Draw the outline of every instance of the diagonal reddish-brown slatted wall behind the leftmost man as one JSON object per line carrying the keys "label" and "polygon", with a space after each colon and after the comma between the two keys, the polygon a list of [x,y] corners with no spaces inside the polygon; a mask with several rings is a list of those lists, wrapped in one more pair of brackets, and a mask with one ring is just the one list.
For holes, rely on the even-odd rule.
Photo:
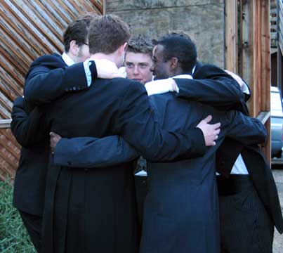
{"label": "diagonal reddish-brown slatted wall behind the leftmost man", "polygon": [[[11,118],[13,100],[22,95],[32,61],[46,53],[62,53],[67,25],[86,12],[102,14],[103,0],[0,1],[0,120]],[[1,128],[0,179],[13,176],[19,148],[11,131]]]}

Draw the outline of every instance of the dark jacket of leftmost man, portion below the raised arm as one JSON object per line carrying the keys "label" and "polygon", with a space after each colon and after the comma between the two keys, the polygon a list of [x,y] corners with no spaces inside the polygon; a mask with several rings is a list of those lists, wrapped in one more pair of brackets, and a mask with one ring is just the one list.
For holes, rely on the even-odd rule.
{"label": "dark jacket of leftmost man, portion below the raised arm", "polygon": [[44,207],[48,133],[41,124],[39,108],[28,108],[22,97],[15,99],[11,130],[20,145],[20,162],[15,173],[13,205],[23,212],[41,216]]}

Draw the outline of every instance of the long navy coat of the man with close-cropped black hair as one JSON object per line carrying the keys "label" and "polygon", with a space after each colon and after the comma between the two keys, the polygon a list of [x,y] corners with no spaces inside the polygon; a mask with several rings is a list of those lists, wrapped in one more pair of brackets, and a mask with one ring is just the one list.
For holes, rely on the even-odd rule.
{"label": "long navy coat of the man with close-cropped black hair", "polygon": [[208,105],[176,99],[172,93],[150,99],[164,129],[182,131],[213,115],[213,122],[221,122],[221,132],[217,144],[209,147],[203,157],[147,163],[149,190],[140,252],[219,252],[216,149],[224,136],[244,144],[261,143],[266,137],[265,128],[257,119],[244,117],[240,112],[219,112]]}

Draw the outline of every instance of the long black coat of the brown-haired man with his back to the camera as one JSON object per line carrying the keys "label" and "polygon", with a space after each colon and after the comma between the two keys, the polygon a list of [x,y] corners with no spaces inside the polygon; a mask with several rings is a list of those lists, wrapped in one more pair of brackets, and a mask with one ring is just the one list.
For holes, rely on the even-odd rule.
{"label": "long black coat of the brown-haired man with his back to the camera", "polygon": [[[31,70],[30,73],[36,71]],[[79,82],[79,77],[76,80]],[[123,136],[152,160],[171,160],[180,154],[194,157],[203,155],[206,151],[200,129],[190,129],[185,133],[170,133],[159,129],[144,86],[129,79],[95,79],[89,89],[65,94],[55,100],[46,110],[46,118],[51,131],[67,138]],[[56,248],[65,246],[58,241],[53,243],[54,229],[51,221],[55,219],[55,227],[59,229],[56,233],[64,234],[65,226],[68,227],[66,233],[77,232],[68,234],[68,240],[78,240],[78,235],[84,237],[86,233],[92,233],[96,237],[108,238],[107,247],[112,245],[117,252],[133,252],[131,235],[135,230],[133,216],[136,215],[133,212],[133,193],[131,163],[103,169],[58,168],[51,164],[46,186],[43,250],[52,252],[48,245],[54,243]],[[84,196],[82,202],[81,196]],[[121,196],[124,196],[123,201]],[[66,202],[68,199],[69,202]],[[86,203],[93,212],[91,216],[85,212]],[[110,210],[109,216],[104,215],[105,210]],[[74,213],[77,217],[75,219],[88,221],[81,231],[71,222]],[[65,218],[62,220],[60,217]],[[93,227],[99,233],[93,231]],[[115,236],[109,233],[115,233]],[[118,247],[112,240],[118,238],[119,241],[121,237],[129,240]],[[104,242],[105,240],[97,240],[91,250],[103,251],[106,247]]]}

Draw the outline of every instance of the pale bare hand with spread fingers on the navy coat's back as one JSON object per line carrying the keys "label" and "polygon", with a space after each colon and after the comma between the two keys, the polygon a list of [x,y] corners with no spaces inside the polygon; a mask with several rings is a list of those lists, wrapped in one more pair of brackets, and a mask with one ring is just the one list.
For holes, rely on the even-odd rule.
{"label": "pale bare hand with spread fingers on the navy coat's back", "polygon": [[204,141],[206,147],[211,145],[216,145],[216,140],[218,139],[218,134],[220,133],[221,123],[209,124],[211,122],[212,116],[209,115],[205,119],[202,119],[199,124],[197,124],[197,128],[202,130],[204,134]]}

